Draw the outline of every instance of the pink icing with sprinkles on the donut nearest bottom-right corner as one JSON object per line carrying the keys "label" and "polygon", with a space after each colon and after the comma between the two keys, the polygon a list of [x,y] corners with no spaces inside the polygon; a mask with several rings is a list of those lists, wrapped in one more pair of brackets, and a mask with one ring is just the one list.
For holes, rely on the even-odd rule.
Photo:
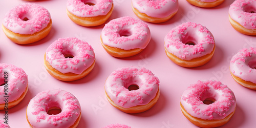
{"label": "pink icing with sprinkles on the donut nearest bottom-right corner", "polygon": [[[204,104],[206,98],[216,101]],[[236,98],[233,92],[220,81],[198,81],[191,84],[180,99],[184,109],[193,117],[204,120],[224,119],[236,108]]]}

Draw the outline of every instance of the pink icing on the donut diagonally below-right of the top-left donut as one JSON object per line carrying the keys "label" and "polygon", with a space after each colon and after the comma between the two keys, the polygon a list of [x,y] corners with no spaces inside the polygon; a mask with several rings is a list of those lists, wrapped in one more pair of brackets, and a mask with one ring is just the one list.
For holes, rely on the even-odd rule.
{"label": "pink icing on the donut diagonally below-right of the top-left donut", "polygon": [[[73,55],[73,58],[65,58]],[[61,73],[81,74],[95,60],[93,48],[85,41],[74,37],[59,38],[46,50],[46,60]]]}

